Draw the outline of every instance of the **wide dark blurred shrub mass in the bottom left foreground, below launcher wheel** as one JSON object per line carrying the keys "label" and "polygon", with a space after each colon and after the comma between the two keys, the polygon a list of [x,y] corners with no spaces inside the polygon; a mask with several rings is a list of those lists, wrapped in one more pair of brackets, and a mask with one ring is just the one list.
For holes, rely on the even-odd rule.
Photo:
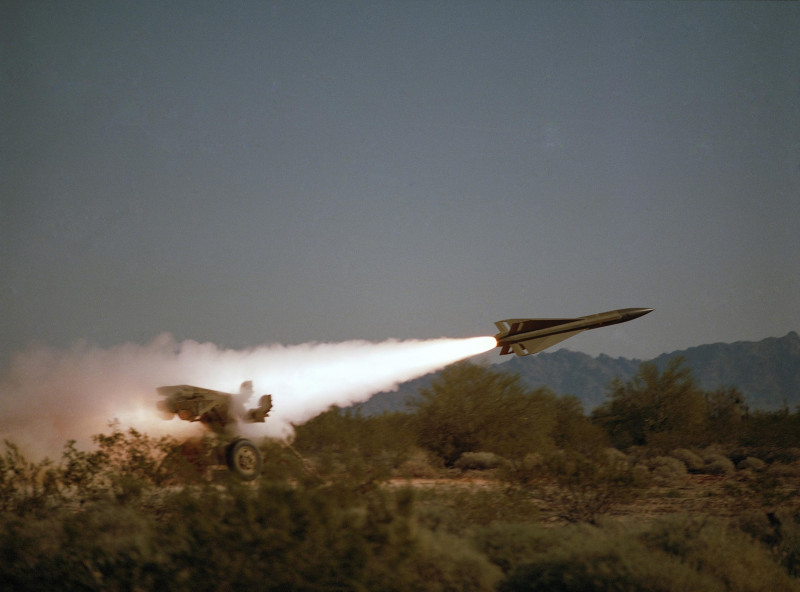
{"label": "wide dark blurred shrub mass in the bottom left foreground, below launcher wheel", "polygon": [[261,481],[0,515],[0,589],[494,590],[500,570],[414,519],[408,490]]}

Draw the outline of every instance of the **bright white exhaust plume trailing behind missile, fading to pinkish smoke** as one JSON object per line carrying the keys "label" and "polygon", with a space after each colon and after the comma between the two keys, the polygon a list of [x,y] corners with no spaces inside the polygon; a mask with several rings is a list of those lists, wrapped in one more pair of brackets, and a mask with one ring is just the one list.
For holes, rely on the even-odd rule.
{"label": "bright white exhaust plume trailing behind missile, fading to pinkish smoke", "polygon": [[[232,350],[212,343],[177,342],[165,334],[148,345],[108,349],[79,344],[69,350],[36,348],[18,354],[0,379],[0,438],[23,450],[57,457],[67,439],[85,446],[118,419],[123,429],[186,437],[196,423],[163,420],[156,387],[193,384],[238,392],[252,380],[255,394],[273,396],[265,424],[248,435],[286,436],[331,405],[346,406],[448,364],[488,351],[492,337],[348,341]],[[254,431],[257,430],[257,431]]]}

